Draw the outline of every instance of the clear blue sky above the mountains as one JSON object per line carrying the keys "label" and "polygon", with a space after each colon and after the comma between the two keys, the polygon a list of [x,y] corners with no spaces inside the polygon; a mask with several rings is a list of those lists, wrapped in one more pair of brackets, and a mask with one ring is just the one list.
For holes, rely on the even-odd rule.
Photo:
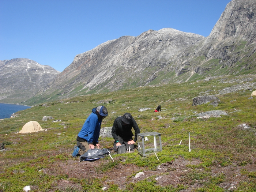
{"label": "clear blue sky above the mountains", "polygon": [[76,54],[124,35],[173,28],[208,36],[230,0],[0,0],[0,60],[63,71]]}

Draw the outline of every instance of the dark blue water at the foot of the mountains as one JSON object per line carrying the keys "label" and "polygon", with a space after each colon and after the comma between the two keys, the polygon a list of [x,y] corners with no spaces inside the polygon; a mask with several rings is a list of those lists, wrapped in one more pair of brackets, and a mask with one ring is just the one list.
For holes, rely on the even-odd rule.
{"label": "dark blue water at the foot of the mountains", "polygon": [[28,108],[31,108],[31,106],[0,103],[0,119],[10,118],[13,113]]}

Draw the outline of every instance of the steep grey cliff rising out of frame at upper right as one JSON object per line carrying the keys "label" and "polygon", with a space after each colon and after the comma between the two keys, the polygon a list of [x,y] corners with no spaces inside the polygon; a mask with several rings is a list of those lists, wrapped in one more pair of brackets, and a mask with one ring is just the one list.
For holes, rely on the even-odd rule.
{"label": "steep grey cliff rising out of frame at upper right", "polygon": [[186,48],[170,68],[178,81],[197,75],[239,75],[255,72],[256,1],[232,0],[211,34]]}

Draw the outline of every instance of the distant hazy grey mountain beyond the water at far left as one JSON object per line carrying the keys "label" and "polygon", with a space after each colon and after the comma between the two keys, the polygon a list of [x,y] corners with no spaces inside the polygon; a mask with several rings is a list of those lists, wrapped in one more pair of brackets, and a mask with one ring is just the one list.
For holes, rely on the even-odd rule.
{"label": "distant hazy grey mountain beyond the water at far left", "polygon": [[0,61],[0,102],[22,103],[44,89],[59,73],[30,59]]}

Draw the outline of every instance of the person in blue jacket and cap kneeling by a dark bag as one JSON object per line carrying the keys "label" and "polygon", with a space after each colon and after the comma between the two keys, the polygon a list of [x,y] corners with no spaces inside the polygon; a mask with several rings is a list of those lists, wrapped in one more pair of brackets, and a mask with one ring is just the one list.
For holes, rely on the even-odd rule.
{"label": "person in blue jacket and cap kneeling by a dark bag", "polygon": [[81,131],[76,138],[77,146],[74,147],[73,157],[83,155],[89,149],[100,146],[99,131],[101,129],[102,119],[108,116],[108,110],[105,106],[98,106],[92,109],[92,113],[85,120]]}

